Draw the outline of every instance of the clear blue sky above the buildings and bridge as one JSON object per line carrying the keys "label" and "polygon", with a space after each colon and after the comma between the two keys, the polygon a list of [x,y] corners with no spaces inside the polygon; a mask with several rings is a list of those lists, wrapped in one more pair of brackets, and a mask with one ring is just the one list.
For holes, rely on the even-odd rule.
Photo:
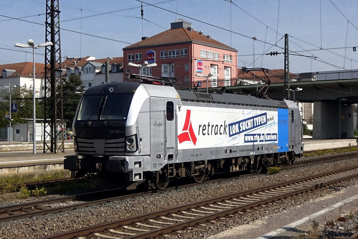
{"label": "clear blue sky above the buildings and bridge", "polygon": [[[35,44],[45,41],[45,2],[0,1],[0,64],[32,62],[32,49],[25,53],[25,48],[16,48],[14,43],[26,43],[30,38]],[[61,55],[97,59],[123,56],[122,48],[139,42],[142,36],[163,32],[170,28],[170,22],[182,18],[191,22],[194,30],[237,49],[238,67],[253,67],[255,44],[255,67],[282,69],[283,54],[265,53],[284,52],[283,36],[287,33],[292,54],[304,55],[290,55],[290,72],[358,69],[358,49],[353,52],[353,47],[358,48],[357,0],[231,2],[59,0]],[[141,3],[144,20],[140,16]],[[81,37],[80,32],[89,35]],[[258,40],[254,43],[252,37]],[[44,54],[44,50],[36,49],[35,53]],[[40,54],[35,56],[35,62],[44,62]],[[318,58],[306,57],[312,55]]]}

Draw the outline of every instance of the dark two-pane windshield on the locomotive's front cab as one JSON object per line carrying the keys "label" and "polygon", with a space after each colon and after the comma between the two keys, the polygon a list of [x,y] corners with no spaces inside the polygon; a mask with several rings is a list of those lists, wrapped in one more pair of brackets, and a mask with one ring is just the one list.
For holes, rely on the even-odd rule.
{"label": "dark two-pane windshield on the locomotive's front cab", "polygon": [[126,119],[131,104],[131,94],[84,95],[77,120]]}

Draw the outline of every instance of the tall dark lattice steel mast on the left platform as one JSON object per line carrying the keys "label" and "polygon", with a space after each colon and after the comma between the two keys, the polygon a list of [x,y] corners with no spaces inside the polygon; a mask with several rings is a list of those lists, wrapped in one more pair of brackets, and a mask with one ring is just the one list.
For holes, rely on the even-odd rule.
{"label": "tall dark lattice steel mast on the left platform", "polygon": [[[53,46],[45,49],[44,153],[64,152],[62,70],[60,44],[59,0],[46,1],[46,41]],[[60,137],[58,139],[58,137]]]}

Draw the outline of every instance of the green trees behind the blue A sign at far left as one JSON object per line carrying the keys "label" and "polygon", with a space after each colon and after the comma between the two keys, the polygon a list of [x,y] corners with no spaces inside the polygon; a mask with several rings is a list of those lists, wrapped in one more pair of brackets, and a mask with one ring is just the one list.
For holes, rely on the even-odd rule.
{"label": "green trees behind the blue A sign at far left", "polygon": [[[9,91],[1,91],[0,93],[0,114],[3,116],[9,113],[10,102],[9,102]],[[11,113],[11,121],[14,123],[26,123],[24,119],[33,118],[33,89],[32,87],[24,86],[16,87],[11,89],[11,103],[18,105],[18,112]],[[43,119],[43,102],[36,100],[36,118]],[[4,116],[0,117],[0,127],[5,127],[9,124],[9,120],[5,119]]]}

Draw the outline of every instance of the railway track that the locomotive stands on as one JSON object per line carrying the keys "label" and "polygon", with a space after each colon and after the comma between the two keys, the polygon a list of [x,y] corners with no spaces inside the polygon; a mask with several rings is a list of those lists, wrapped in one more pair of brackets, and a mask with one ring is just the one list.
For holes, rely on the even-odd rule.
{"label": "railway track that the locomotive stands on", "polygon": [[[323,162],[332,162],[342,159],[347,159],[351,157],[358,156],[358,153],[352,154],[345,154],[339,156],[330,156],[325,158],[317,158],[317,159],[310,159],[304,161],[297,161],[295,164],[289,164],[283,166],[283,169],[289,169],[292,167],[302,167],[311,164],[323,163]],[[258,173],[251,173],[245,175],[238,175],[229,178],[218,178],[214,180],[204,181],[202,184],[212,184],[217,182],[223,182],[228,180],[235,180],[242,177],[248,177],[252,175],[257,175]],[[83,208],[87,206],[93,206],[98,204],[103,204],[111,201],[119,201],[123,199],[139,197],[150,195],[153,193],[161,192],[161,191],[171,191],[171,190],[178,190],[180,188],[187,188],[198,185],[198,183],[191,183],[185,185],[175,185],[172,187],[168,187],[165,190],[152,190],[152,191],[121,191],[121,190],[106,190],[106,191],[97,191],[97,192],[89,192],[89,193],[82,193],[73,196],[61,197],[56,199],[49,199],[49,200],[42,200],[42,201],[35,201],[35,202],[27,202],[24,204],[17,204],[17,205],[9,205],[0,207],[0,222],[6,222],[10,220],[16,220],[21,218],[28,218],[31,216],[38,216],[38,215],[45,215],[45,214],[53,214],[58,212],[70,211],[73,209]],[[113,195],[118,195],[113,197]],[[100,198],[100,199],[99,199]],[[54,204],[74,201],[71,205],[66,206],[54,206]],[[82,202],[85,201],[85,202]]]}

